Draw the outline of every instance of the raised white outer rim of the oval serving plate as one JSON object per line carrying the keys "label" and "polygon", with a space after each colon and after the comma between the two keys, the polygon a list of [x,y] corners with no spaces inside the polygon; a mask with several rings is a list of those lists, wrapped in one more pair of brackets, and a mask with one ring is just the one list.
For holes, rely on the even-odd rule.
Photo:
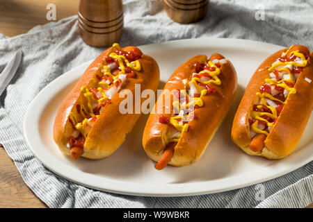
{"label": "raised white outer rim of the oval serving plate", "polygon": [[[193,44],[193,45],[201,45],[203,44],[202,41],[213,41],[213,42],[227,42],[226,44],[230,44],[231,42],[236,42],[238,44],[246,44],[247,42],[250,42],[250,44],[254,44],[253,46],[257,46],[259,49],[264,49],[263,47],[264,46],[268,46],[268,47],[274,47],[274,48],[285,48],[284,46],[279,46],[279,45],[276,45],[276,44],[270,44],[270,43],[266,43],[266,42],[257,42],[257,41],[253,41],[253,40],[241,40],[241,39],[232,39],[232,38],[198,38],[198,39],[186,39],[186,40],[173,40],[173,41],[169,41],[169,42],[160,42],[160,43],[154,43],[154,44],[147,44],[147,45],[143,45],[143,46],[138,46],[140,49],[143,49],[144,51],[149,49],[150,47],[153,48],[153,46],[159,46],[160,44],[161,45],[168,45],[168,44],[171,44],[172,46],[176,46],[177,44],[181,44],[182,42],[185,42],[185,43],[190,43]],[[249,44],[247,44],[249,45]],[[146,49],[147,48],[147,49]],[[255,50],[255,49],[254,49]],[[279,50],[279,49],[278,49]],[[42,152],[40,153],[40,151],[38,152],[38,149],[34,149],[32,145],[34,141],[31,141],[29,140],[29,134],[31,133],[31,128],[35,129],[35,128],[38,128],[38,126],[33,126],[31,127],[31,124],[29,124],[29,121],[31,120],[31,115],[37,117],[37,119],[40,118],[40,115],[42,112],[40,112],[40,110],[44,110],[45,108],[45,105],[47,105],[47,101],[44,101],[42,103],[44,103],[44,105],[42,105],[43,108],[40,108],[40,109],[35,109],[35,105],[36,105],[36,101],[39,101],[38,98],[40,98],[41,96],[45,95],[45,93],[49,90],[49,86],[51,87],[51,85],[54,85],[58,82],[62,83],[62,80],[63,79],[66,79],[67,76],[69,76],[70,73],[72,73],[74,70],[79,70],[79,69],[82,69],[81,67],[83,66],[86,66],[86,68],[88,67],[88,65],[90,65],[90,62],[92,62],[93,60],[89,60],[88,62],[84,62],[83,64],[77,66],[77,67],[74,67],[74,69],[70,69],[69,71],[66,71],[64,74],[61,74],[60,76],[58,76],[58,78],[54,79],[51,81],[51,83],[49,83],[48,85],[46,85],[42,90],[40,90],[40,92],[35,96],[35,98],[33,99],[33,101],[31,101],[29,107],[27,108],[27,111],[26,111],[26,114],[24,116],[24,121],[23,121],[23,130],[24,130],[24,137],[26,139],[26,142],[27,144],[29,145],[29,148],[31,148],[31,151],[33,152],[33,154],[35,155],[35,157],[45,166],[47,167],[50,171],[53,171],[54,173],[56,173],[58,176],[61,176],[62,178],[65,178],[66,180],[70,180],[72,182],[75,182],[79,185],[83,185],[85,187],[89,187],[89,188],[92,188],[92,189],[97,189],[97,190],[101,190],[101,191],[108,191],[110,193],[114,193],[114,194],[126,194],[126,195],[134,195],[134,196],[195,196],[195,195],[202,195],[202,194],[214,194],[214,193],[218,193],[220,191],[229,191],[229,190],[233,190],[233,189],[239,189],[241,187],[248,187],[250,185],[255,185],[259,182],[265,182],[265,181],[268,181],[268,180],[271,180],[271,179],[274,179],[274,178],[278,178],[280,176],[283,176],[284,174],[286,173],[289,173],[291,171],[294,171],[302,166],[304,166],[305,164],[311,162],[313,160],[313,155],[311,155],[310,158],[307,158],[305,161],[296,161],[297,164],[294,164],[292,165],[292,167],[289,167],[287,169],[280,169],[278,171],[278,173],[269,173],[269,176],[266,176],[266,177],[262,177],[262,178],[255,178],[255,172],[253,173],[250,173],[251,175],[249,176],[248,173],[244,174],[246,176],[246,178],[255,178],[254,180],[250,180],[250,182],[247,182],[247,179],[243,178],[243,176],[233,176],[233,177],[227,177],[227,178],[219,178],[219,179],[216,179],[216,180],[211,180],[211,181],[202,181],[202,182],[189,182],[187,184],[184,184],[184,183],[179,183],[179,184],[164,184],[164,185],[150,185],[150,184],[139,184],[138,182],[125,182],[123,180],[113,180],[111,178],[100,178],[99,181],[106,181],[108,184],[109,184],[109,187],[106,186],[106,184],[104,186],[100,186],[99,185],[90,185],[90,182],[87,183],[83,180],[88,180],[88,178],[90,179],[90,181],[93,181],[93,177],[96,177],[96,178],[99,178],[97,177],[96,175],[93,175],[91,173],[86,173],[86,172],[83,172],[83,171],[80,171],[79,169],[75,168],[75,167],[72,167],[72,166],[69,166],[67,164],[65,164],[63,161],[61,160],[58,160],[57,158],[50,158],[48,157],[48,160],[46,159],[47,157],[45,156],[42,156]],[[77,76],[81,76],[80,75],[77,75]],[[69,80],[67,81],[64,81],[66,82],[63,83],[63,85],[68,85],[70,83]],[[57,91],[59,92],[60,89]],[[39,113],[39,115],[34,115],[34,112],[36,113]],[[38,123],[37,121],[35,121],[35,123]],[[36,125],[36,124],[35,124]],[[40,139],[40,135],[39,133],[37,132],[38,134],[38,138],[37,139]],[[41,142],[41,140],[40,140]],[[307,147],[305,149],[302,149],[300,151],[298,151],[298,155],[291,155],[287,158],[289,158],[289,161],[292,161],[294,159],[302,159],[301,157],[303,155],[301,155],[301,153],[305,152],[305,150],[307,150],[308,148],[313,148],[312,144],[309,145],[310,147]],[[42,151],[47,151],[47,149],[42,149]],[[48,151],[47,151],[48,152]],[[299,153],[300,152],[300,153]],[[48,152],[49,153],[49,152]],[[306,153],[306,152],[305,152]],[[246,154],[245,154],[246,155]],[[51,156],[50,156],[51,157]],[[71,171],[71,173],[68,173],[67,171],[63,171],[63,167],[62,167],[62,164],[61,165],[58,165],[56,163],[53,163],[51,162],[51,160],[54,159],[56,160],[56,163],[57,162],[61,162],[63,163],[63,165],[65,167],[70,167],[73,171]],[[290,160],[291,159],[291,160]],[[280,166],[279,166],[280,167]],[[286,167],[284,167],[286,168]],[[257,171],[261,171],[264,173],[267,172],[267,171],[271,171],[271,169],[269,169],[269,167],[264,167],[262,169],[259,169]],[[277,171],[277,170],[276,170]],[[276,172],[275,171],[275,172]],[[85,178],[75,178],[77,176],[77,173],[78,174],[81,174],[85,177]],[[74,176],[71,176],[71,175],[74,175]],[[80,175],[78,175],[80,176]],[[197,190],[199,189],[199,186],[204,186],[204,187],[209,187],[210,183],[212,182],[220,182],[223,184],[223,180],[230,180],[233,179],[233,180],[238,180],[238,182],[236,182],[236,185],[232,185],[232,186],[221,186],[220,188],[218,189],[200,189],[200,190]],[[249,181],[249,180],[248,180]],[[114,182],[114,188],[111,187],[110,188],[110,185],[113,185]],[[116,185],[116,183],[122,183],[122,186],[121,185]],[[129,186],[128,186],[129,185]],[[129,189],[129,187],[133,187],[133,185],[136,185],[138,187],[138,185],[141,185],[140,188],[132,188],[132,189]],[[161,188],[160,188],[161,186]],[[117,188],[116,188],[117,187]],[[127,187],[127,188],[126,188]],[[148,187],[148,188],[147,188]],[[166,188],[164,188],[166,187]],[[177,191],[177,187],[179,188],[179,191]],[[183,191],[182,190],[182,187],[184,187],[184,189],[186,189],[187,191]],[[188,189],[186,187],[193,187],[195,189]],[[227,187],[227,188],[225,188]],[[173,193],[173,191],[175,191]]]}

